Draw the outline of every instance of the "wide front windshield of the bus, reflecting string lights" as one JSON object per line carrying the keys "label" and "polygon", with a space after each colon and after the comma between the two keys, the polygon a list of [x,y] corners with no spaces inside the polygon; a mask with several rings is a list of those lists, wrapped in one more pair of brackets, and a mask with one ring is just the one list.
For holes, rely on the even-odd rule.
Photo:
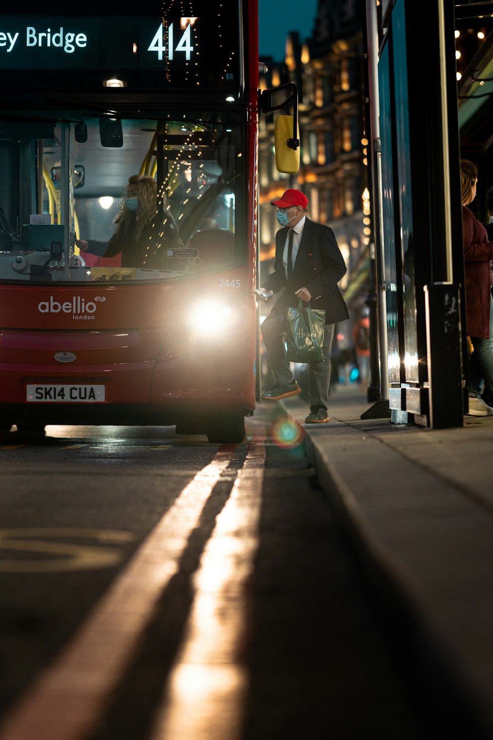
{"label": "wide front windshield of the bus, reflecting string lights", "polygon": [[244,263],[242,116],[0,122],[0,281],[169,280]]}

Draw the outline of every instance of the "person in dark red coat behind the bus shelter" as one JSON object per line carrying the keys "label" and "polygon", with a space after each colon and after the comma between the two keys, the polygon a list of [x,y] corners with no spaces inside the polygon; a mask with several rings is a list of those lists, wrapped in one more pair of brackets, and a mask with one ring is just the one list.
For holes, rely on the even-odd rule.
{"label": "person in dark red coat behind the bus shelter", "polygon": [[474,351],[469,357],[469,414],[491,416],[493,408],[480,395],[483,379],[493,394],[493,326],[490,275],[493,242],[486,229],[466,206],[476,196],[477,167],[469,160],[460,161],[464,263],[466,279],[466,325]]}

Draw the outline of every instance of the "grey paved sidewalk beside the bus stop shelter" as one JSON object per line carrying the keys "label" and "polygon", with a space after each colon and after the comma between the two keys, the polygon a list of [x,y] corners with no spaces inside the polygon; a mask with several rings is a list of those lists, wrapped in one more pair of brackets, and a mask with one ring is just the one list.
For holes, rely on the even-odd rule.
{"label": "grey paved sidewalk beside the bus stop shelter", "polygon": [[410,615],[417,650],[424,642],[426,662],[431,649],[493,738],[493,417],[444,430],[361,420],[371,403],[358,386],[337,386],[329,403],[324,425],[304,425],[299,396],[284,406],[364,562]]}

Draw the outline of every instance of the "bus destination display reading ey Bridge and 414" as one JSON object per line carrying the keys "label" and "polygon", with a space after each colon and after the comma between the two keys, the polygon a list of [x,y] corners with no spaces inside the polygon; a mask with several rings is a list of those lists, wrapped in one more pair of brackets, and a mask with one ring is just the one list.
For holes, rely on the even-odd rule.
{"label": "bus destination display reading ey Bridge and 414", "polygon": [[123,87],[238,89],[239,21],[225,13],[0,16],[0,70],[10,70],[0,88],[94,88],[116,78]]}

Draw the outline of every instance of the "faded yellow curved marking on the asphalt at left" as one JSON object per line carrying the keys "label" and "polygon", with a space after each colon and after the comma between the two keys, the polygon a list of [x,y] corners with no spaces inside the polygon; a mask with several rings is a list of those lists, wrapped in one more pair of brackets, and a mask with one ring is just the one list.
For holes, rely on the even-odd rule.
{"label": "faded yellow curved marking on the asphalt at left", "polygon": [[[39,539],[27,539],[36,537]],[[52,559],[0,559],[0,573],[58,573],[85,571],[92,568],[109,568],[123,558],[116,548],[74,545],[72,542],[46,542],[42,537],[84,537],[112,544],[132,542],[131,532],[116,530],[80,529],[72,527],[28,527],[0,529],[0,553],[4,550],[35,552],[54,555]]]}

